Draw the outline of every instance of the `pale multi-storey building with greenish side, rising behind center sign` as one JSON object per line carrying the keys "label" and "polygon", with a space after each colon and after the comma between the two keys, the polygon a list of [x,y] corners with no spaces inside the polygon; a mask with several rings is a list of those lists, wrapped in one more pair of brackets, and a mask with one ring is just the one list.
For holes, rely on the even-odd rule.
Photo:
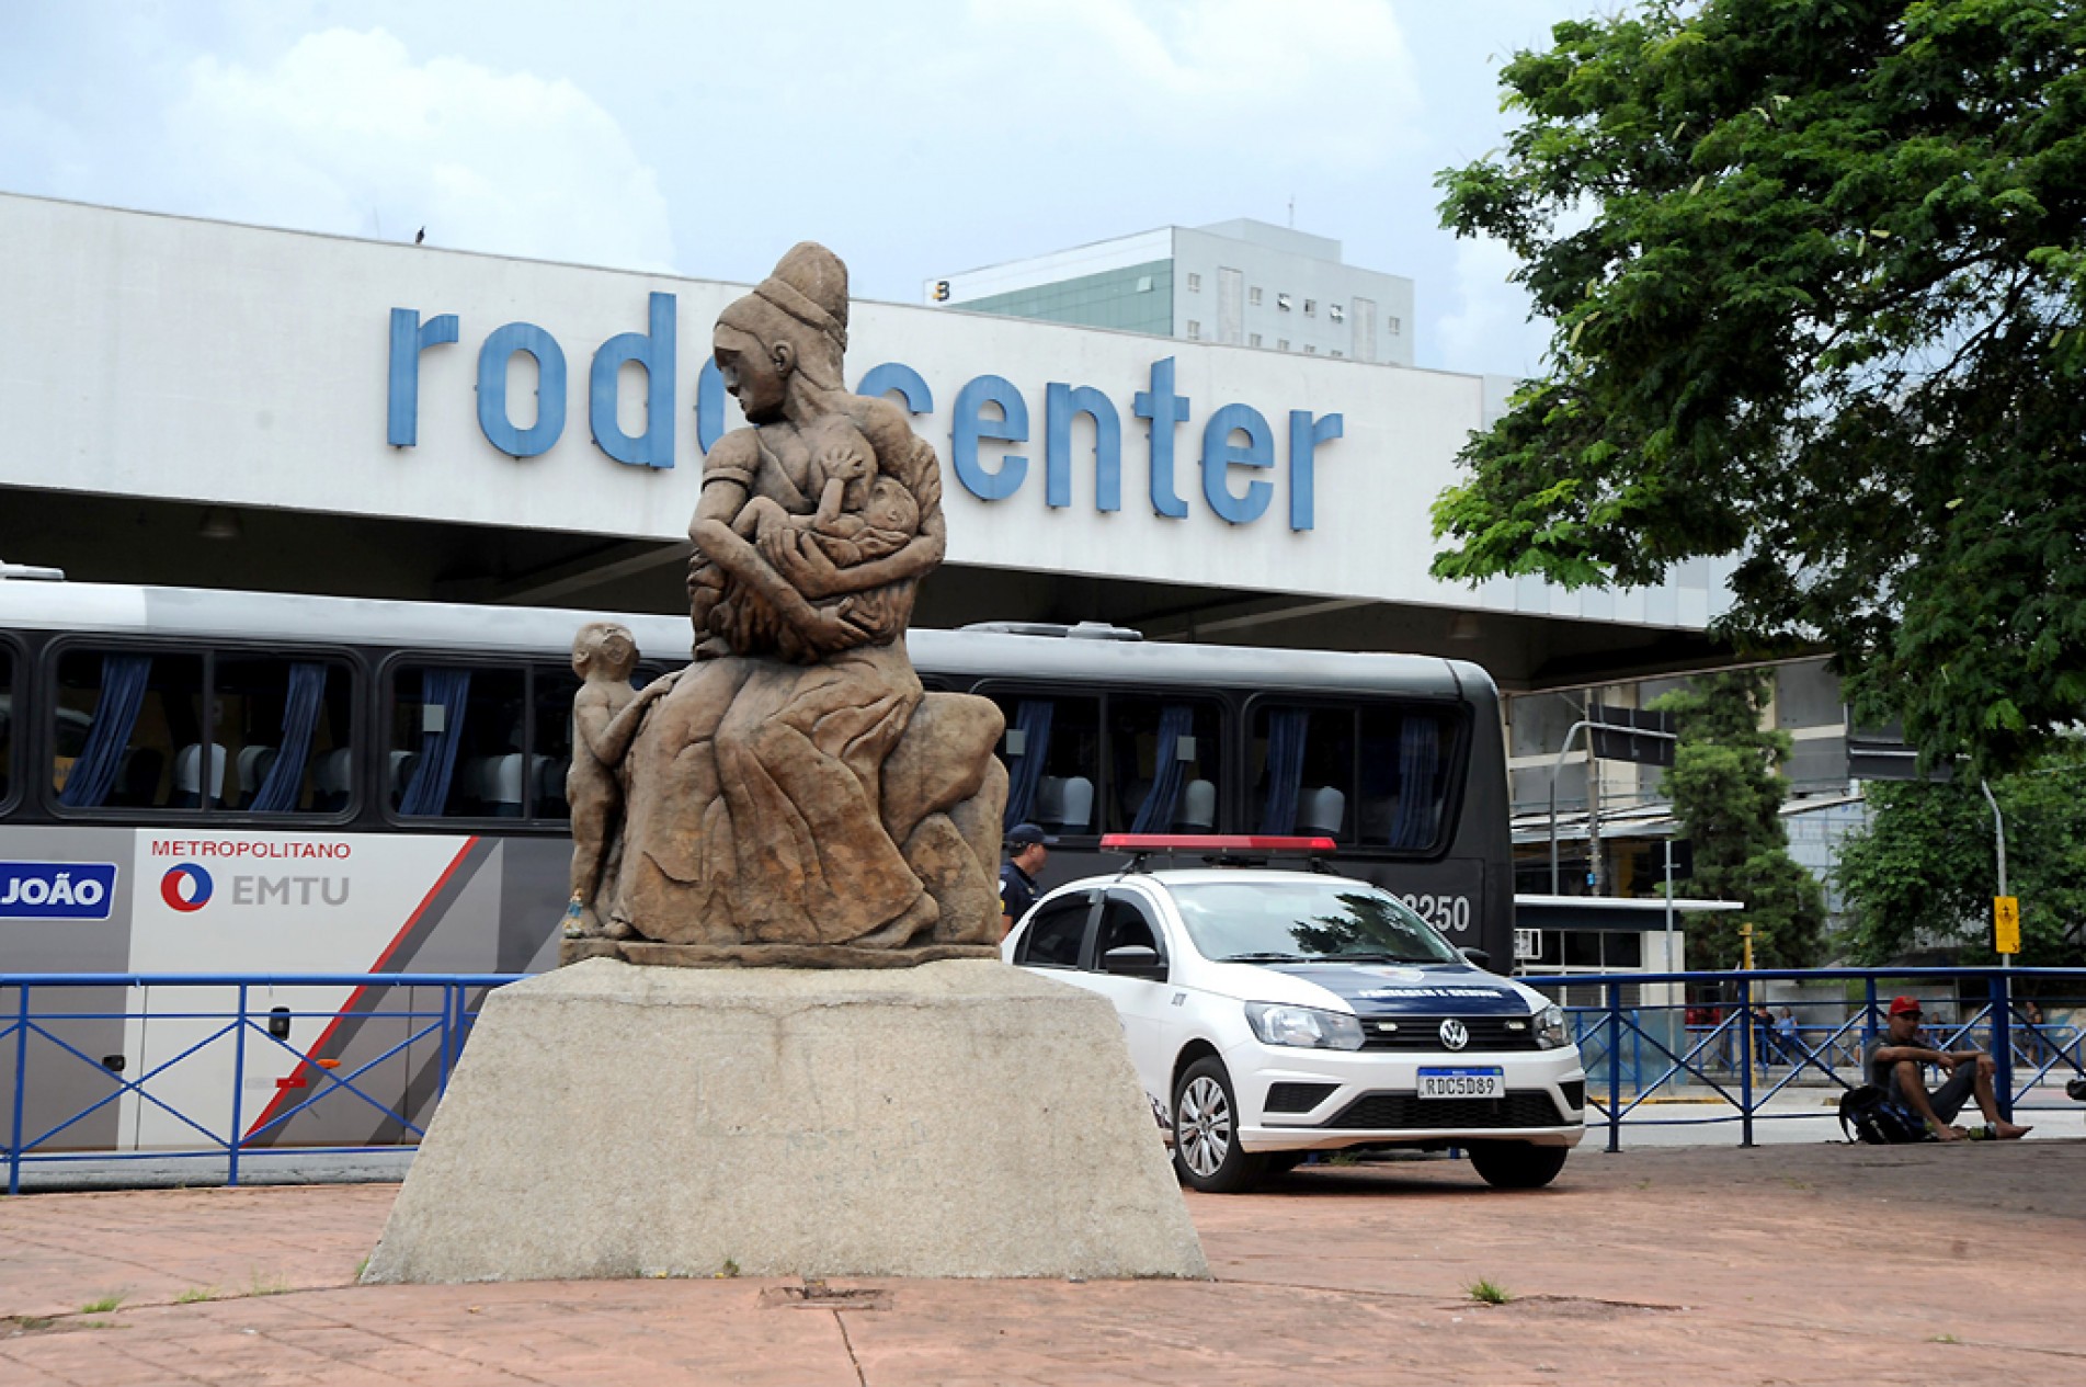
{"label": "pale multi-storey building with greenish side, rising behind center sign", "polygon": [[1185,342],[1412,365],[1412,279],[1266,221],[1160,227],[941,275],[924,300]]}

